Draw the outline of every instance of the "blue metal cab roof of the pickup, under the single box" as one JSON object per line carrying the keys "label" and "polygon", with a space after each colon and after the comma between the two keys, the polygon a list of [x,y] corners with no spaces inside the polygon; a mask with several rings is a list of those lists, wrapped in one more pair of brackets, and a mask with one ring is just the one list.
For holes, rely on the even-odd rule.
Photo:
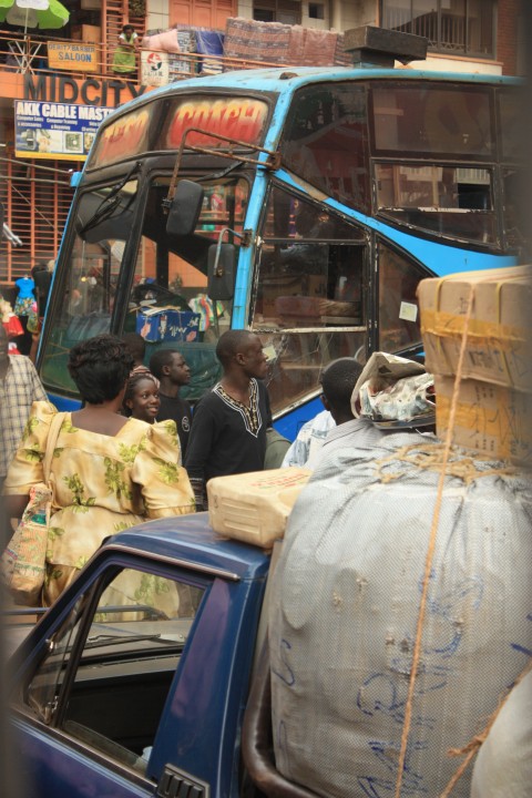
{"label": "blue metal cab roof of the pickup, under the single box", "polygon": [[258,546],[222,538],[208,523],[208,513],[146,521],[105,540],[105,548],[127,549],[172,562],[183,560],[211,572],[239,580],[264,576],[269,554]]}

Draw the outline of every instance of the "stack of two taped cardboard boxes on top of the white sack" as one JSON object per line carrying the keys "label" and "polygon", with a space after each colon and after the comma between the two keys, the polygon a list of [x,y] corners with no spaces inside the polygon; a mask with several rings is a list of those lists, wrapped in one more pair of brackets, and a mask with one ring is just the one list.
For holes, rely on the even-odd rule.
{"label": "stack of two taped cardboard boxes on top of the white sack", "polygon": [[532,467],[532,267],[422,280],[418,296],[426,366],[434,375],[438,434],[444,437],[449,426],[472,296],[453,441]]}

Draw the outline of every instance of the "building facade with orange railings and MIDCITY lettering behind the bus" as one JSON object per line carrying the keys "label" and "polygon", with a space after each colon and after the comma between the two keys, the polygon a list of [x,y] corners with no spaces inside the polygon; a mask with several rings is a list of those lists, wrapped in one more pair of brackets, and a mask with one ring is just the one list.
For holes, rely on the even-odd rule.
{"label": "building facade with orange railings and MIDCITY lettering behind the bus", "polygon": [[[40,260],[55,258],[72,198],[70,175],[82,166],[99,121],[149,90],[139,70],[113,72],[125,22],[139,37],[186,25],[223,31],[234,17],[337,31],[372,24],[426,35],[428,69],[520,74],[524,62],[519,0],[66,0],[64,4],[70,19],[61,30],[41,34],[30,29],[24,35],[20,28],[0,25],[0,202],[6,223],[21,241],[17,245],[14,239],[2,239],[3,293]],[[61,153],[54,154],[50,135],[47,139],[42,131],[40,142],[37,133],[25,133],[27,149],[21,151],[16,111],[31,114],[35,103],[52,110],[55,104],[75,106],[72,114],[83,117],[64,134]]]}

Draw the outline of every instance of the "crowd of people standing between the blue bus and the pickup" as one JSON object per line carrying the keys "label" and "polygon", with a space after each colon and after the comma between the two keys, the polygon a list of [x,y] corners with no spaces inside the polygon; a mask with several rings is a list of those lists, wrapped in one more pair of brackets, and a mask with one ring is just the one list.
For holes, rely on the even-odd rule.
{"label": "crowd of people standing between the blue bus and the pickup", "polygon": [[[386,431],[358,418],[351,396],[362,367],[340,358],[321,374],[325,410],[290,444],[273,428],[260,338],[228,330],[218,339],[219,381],[195,405],[181,396],[191,380],[183,355],[146,358],[136,332],[99,335],[70,352],[82,407],[61,415],[53,446],[53,487],[43,605],[75,577],[101,541],[149,519],[207,510],[214,477],[280,466],[315,469],[354,438],[378,444]],[[146,365],[147,359],[147,365]],[[43,481],[57,409],[31,359],[9,354],[0,327],[0,488],[9,519],[4,545],[33,485]]]}

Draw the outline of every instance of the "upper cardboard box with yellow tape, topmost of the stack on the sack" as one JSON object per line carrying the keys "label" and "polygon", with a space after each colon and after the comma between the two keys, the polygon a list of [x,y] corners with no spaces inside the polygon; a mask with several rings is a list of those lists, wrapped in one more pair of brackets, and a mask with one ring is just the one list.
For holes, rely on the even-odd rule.
{"label": "upper cardboard box with yellow tape, topmost of the stack on the sack", "polygon": [[531,390],[531,266],[421,280],[418,298],[427,370],[454,375],[471,291],[462,378]]}

